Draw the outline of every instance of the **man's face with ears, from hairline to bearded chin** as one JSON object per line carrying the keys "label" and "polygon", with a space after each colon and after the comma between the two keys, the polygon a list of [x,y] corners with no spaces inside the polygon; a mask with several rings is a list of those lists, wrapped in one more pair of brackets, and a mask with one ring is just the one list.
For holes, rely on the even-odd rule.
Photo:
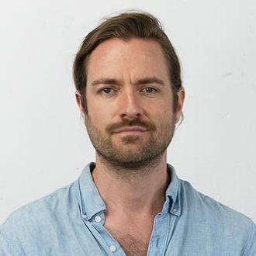
{"label": "man's face with ears, from hairline to bearded chin", "polygon": [[154,40],[107,40],[89,57],[87,74],[85,125],[98,156],[120,168],[161,159],[184,98],[182,89],[174,112],[161,46]]}

